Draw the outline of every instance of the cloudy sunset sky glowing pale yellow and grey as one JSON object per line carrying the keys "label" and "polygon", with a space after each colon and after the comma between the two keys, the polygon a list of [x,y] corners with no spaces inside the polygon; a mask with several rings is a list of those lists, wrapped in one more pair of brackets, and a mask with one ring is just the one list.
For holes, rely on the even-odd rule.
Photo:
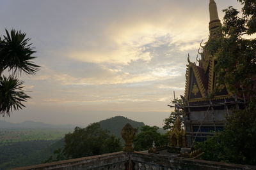
{"label": "cloudy sunset sky glowing pale yellow and grey", "polygon": [[[236,0],[216,0],[219,17]],[[162,127],[184,95],[188,53],[209,36],[209,0],[0,0],[0,34],[26,32],[35,76],[6,122],[88,125],[122,115]],[[5,73],[8,74],[8,73]]]}

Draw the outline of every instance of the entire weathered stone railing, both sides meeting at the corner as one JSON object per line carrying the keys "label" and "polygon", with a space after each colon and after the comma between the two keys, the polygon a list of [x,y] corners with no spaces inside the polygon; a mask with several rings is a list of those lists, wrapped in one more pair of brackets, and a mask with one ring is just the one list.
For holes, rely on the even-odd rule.
{"label": "entire weathered stone railing, both sides meeting at the corner", "polygon": [[116,152],[79,159],[63,160],[36,166],[19,167],[28,169],[124,169],[124,170],[169,170],[169,169],[256,169],[256,166],[227,164],[207,160],[182,159],[143,152]]}

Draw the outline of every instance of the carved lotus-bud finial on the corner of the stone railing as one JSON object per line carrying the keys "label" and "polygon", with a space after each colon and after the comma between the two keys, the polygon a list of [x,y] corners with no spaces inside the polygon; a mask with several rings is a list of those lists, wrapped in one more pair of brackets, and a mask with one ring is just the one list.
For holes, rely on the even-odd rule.
{"label": "carved lotus-bud finial on the corner of the stone railing", "polygon": [[121,131],[121,135],[122,138],[125,141],[125,147],[124,147],[124,152],[133,152],[134,148],[133,148],[133,138],[135,136],[136,133],[136,129],[134,129],[130,124],[126,124],[122,131]]}

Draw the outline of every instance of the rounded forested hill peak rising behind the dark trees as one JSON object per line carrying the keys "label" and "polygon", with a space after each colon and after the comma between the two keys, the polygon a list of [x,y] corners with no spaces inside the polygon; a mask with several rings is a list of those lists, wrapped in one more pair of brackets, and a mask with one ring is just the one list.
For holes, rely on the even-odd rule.
{"label": "rounded forested hill peak rising behind the dark trees", "polygon": [[132,127],[134,128],[145,125],[143,122],[136,122],[134,120],[122,116],[108,118],[106,120],[101,120],[99,122],[100,127],[102,127],[102,129],[108,130],[110,134],[114,134],[118,138],[121,138],[120,132],[127,123],[131,124]]}

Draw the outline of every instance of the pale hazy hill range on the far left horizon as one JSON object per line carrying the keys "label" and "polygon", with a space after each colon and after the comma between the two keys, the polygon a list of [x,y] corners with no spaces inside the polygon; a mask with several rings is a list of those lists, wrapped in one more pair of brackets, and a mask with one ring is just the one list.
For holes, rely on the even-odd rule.
{"label": "pale hazy hill range on the far left horizon", "polygon": [[63,129],[74,129],[76,125],[52,125],[45,124],[42,122],[25,121],[22,123],[14,124],[0,120],[0,128],[12,129],[12,128],[63,128]]}

